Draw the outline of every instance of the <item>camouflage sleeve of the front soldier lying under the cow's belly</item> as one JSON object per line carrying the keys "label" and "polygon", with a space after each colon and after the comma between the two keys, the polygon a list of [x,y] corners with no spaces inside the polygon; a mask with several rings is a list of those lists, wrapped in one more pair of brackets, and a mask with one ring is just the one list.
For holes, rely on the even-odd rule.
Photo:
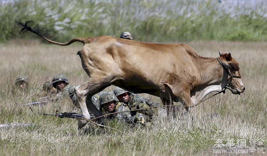
{"label": "camouflage sleeve of the front soldier lying under the cow's belly", "polygon": [[[127,106],[121,105],[116,112],[123,112],[130,110]],[[129,124],[134,124],[134,116],[131,116],[130,112],[117,113],[115,117],[119,122],[125,122]]]}

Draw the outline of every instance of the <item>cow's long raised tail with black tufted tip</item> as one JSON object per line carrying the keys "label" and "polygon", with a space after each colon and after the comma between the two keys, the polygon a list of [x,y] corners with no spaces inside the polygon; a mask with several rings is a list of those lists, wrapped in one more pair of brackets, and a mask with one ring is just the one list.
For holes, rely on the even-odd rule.
{"label": "cow's long raised tail with black tufted tip", "polygon": [[38,32],[37,29],[33,29],[27,25],[29,23],[34,23],[34,21],[26,21],[25,23],[22,23],[22,22],[16,22],[16,23],[18,25],[20,25],[20,28],[21,28],[19,33],[21,33],[21,32],[27,33],[28,31],[30,31],[31,33],[37,34],[38,36],[40,36],[41,38],[45,39],[46,41],[48,41],[50,43],[54,43],[54,44],[61,45],[61,46],[67,46],[67,45],[70,45],[71,43],[74,43],[74,42],[81,42],[81,43],[85,44],[86,40],[88,40],[88,38],[73,38],[66,43],[59,43],[59,42],[55,42],[55,41],[52,41],[52,40],[44,37],[41,33]]}

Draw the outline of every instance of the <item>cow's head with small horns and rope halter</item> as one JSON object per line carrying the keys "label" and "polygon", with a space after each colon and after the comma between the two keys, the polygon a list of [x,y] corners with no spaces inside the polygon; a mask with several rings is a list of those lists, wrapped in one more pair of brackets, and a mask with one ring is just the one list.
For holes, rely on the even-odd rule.
{"label": "cow's head with small horns and rope halter", "polygon": [[219,51],[219,54],[222,65],[229,72],[226,88],[231,90],[233,94],[240,95],[240,93],[245,91],[245,87],[241,81],[238,62],[232,58],[231,53],[223,54],[221,51]]}

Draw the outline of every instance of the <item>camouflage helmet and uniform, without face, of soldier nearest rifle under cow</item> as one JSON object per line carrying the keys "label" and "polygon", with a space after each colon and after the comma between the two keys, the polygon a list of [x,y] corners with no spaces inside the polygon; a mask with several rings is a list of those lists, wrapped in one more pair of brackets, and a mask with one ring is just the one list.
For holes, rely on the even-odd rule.
{"label": "camouflage helmet and uniform, without face, of soldier nearest rifle under cow", "polygon": [[[108,115],[107,118],[109,119],[117,119],[119,122],[124,122],[124,123],[129,123],[129,124],[134,124],[134,117],[131,116],[130,112],[123,112],[123,111],[129,111],[129,107],[125,103],[119,102],[117,97],[114,95],[112,92],[104,92],[100,95],[100,106],[102,110],[102,114],[109,114],[109,113],[115,113],[115,112],[122,112],[122,113],[116,113],[116,114],[111,114]],[[104,108],[103,104],[108,103],[108,102],[115,102],[115,108],[112,112],[106,111]]]}

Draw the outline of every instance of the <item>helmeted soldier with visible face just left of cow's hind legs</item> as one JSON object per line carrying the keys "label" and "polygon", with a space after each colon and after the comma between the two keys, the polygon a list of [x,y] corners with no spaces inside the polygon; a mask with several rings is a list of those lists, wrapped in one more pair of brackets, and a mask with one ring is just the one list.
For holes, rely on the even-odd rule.
{"label": "helmeted soldier with visible face just left of cow's hind legs", "polygon": [[72,87],[68,84],[68,79],[63,74],[57,74],[52,79],[52,85],[57,89],[56,99],[69,95],[69,90]]}

